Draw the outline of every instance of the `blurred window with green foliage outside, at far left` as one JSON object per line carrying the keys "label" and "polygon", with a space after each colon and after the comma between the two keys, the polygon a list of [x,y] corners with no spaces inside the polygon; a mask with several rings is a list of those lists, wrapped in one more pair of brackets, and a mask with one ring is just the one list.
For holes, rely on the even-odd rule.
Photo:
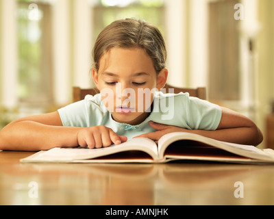
{"label": "blurred window with green foliage outside, at far left", "polygon": [[47,3],[17,2],[18,100],[49,105],[51,89],[51,7]]}

